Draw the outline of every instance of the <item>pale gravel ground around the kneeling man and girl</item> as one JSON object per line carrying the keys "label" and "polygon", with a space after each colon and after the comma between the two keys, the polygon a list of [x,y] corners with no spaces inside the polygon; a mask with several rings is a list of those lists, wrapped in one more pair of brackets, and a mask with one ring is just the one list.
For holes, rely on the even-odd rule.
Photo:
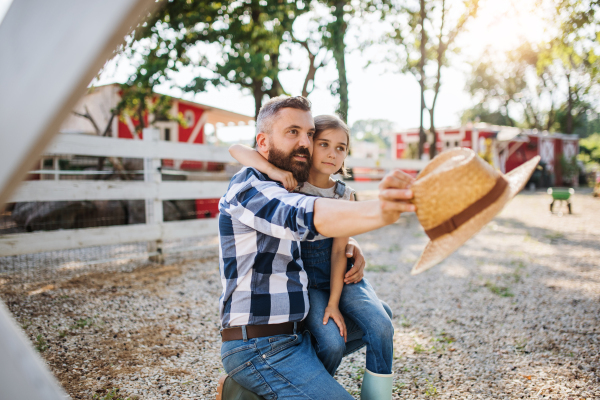
{"label": "pale gravel ground around the kneeling man and girl", "polygon": [[[526,193],[441,265],[409,275],[414,215],[361,235],[366,276],[394,311],[394,398],[600,398],[600,200],[551,215]],[[214,399],[221,291],[203,259],[11,285],[0,296],[76,399]],[[359,398],[364,351],[336,378]],[[107,397],[110,398],[110,397]]]}

